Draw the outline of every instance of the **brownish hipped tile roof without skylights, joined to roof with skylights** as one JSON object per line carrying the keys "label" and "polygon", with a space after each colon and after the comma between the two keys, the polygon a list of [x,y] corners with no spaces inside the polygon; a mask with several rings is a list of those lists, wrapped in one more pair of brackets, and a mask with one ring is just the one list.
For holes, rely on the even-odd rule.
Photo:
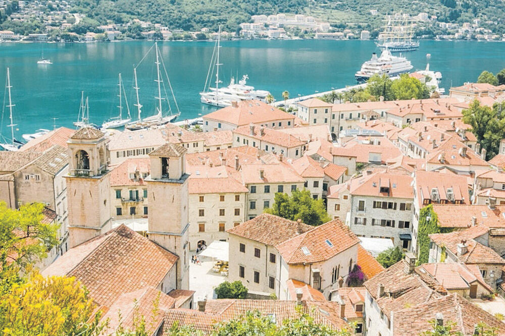
{"label": "brownish hipped tile roof without skylights, joined to roof with skylights", "polygon": [[304,223],[262,213],[234,228],[228,229],[226,232],[270,246],[276,246],[312,229],[314,227]]}

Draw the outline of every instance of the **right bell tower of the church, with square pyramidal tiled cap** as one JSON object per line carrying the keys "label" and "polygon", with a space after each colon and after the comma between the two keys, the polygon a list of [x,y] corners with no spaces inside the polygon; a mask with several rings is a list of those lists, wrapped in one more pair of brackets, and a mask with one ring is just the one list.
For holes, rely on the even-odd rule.
{"label": "right bell tower of the church, with square pyramidal tiled cap", "polygon": [[151,241],[179,256],[177,289],[189,288],[188,177],[186,149],[167,143],[149,153],[151,175],[145,179],[149,197]]}

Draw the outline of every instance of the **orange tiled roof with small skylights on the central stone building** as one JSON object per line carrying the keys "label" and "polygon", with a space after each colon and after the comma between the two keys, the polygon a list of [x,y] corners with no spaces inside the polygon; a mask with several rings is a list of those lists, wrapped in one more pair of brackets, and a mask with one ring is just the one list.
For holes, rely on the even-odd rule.
{"label": "orange tiled roof with small skylights on the central stone building", "polygon": [[328,260],[359,243],[358,237],[340,219],[333,219],[280,243],[276,248],[288,264],[298,264]]}

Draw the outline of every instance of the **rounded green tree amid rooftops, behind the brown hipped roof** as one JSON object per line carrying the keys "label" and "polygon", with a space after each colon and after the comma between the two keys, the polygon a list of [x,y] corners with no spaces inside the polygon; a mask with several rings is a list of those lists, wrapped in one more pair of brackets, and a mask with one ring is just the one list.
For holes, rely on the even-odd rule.
{"label": "rounded green tree amid rooftops, behind the brown hipped roof", "polygon": [[301,219],[302,222],[319,226],[330,221],[322,199],[314,199],[309,190],[294,190],[291,196],[286,193],[276,193],[274,204],[265,209],[266,213],[290,220]]}

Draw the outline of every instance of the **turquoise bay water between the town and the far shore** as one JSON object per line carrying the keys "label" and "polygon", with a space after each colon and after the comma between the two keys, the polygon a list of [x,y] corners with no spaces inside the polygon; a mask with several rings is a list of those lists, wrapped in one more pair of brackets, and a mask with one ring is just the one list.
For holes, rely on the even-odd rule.
{"label": "turquoise bay water between the town and the far shore", "polygon": [[[101,124],[117,112],[118,73],[122,73],[128,103],[134,113],[133,65],[153,42],[102,42],[84,44],[0,44],[0,82],[11,69],[16,137],[38,128],[72,127],[77,119],[81,91],[89,96],[90,121]],[[160,50],[181,110],[181,119],[206,114],[198,92],[203,89],[214,42],[161,42]],[[277,99],[288,90],[291,97],[355,84],[354,73],[378,51],[373,41],[244,40],[224,41],[221,48],[222,81],[249,75],[248,84],[270,90]],[[36,62],[41,53],[53,65]],[[483,70],[505,68],[505,43],[476,41],[421,41],[419,50],[407,53],[415,69],[426,67],[443,75],[441,85],[475,81]],[[154,55],[137,70],[143,116],[155,108]],[[2,99],[2,97],[0,97]],[[172,103],[173,108],[174,105]],[[4,116],[1,130],[9,134]],[[179,120],[181,120],[179,119]]]}

